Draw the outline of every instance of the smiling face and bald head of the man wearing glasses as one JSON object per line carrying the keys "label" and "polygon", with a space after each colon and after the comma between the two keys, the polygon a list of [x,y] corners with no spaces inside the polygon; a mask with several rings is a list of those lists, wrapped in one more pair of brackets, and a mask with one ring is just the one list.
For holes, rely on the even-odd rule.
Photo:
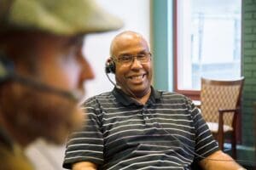
{"label": "smiling face and bald head of the man wearing glasses", "polygon": [[[113,57],[119,59],[124,55],[148,54],[148,43],[137,34],[125,34],[113,43]],[[150,92],[152,79],[151,59],[141,63],[134,59],[131,64],[115,62],[115,77],[122,90],[133,97],[142,98]]]}

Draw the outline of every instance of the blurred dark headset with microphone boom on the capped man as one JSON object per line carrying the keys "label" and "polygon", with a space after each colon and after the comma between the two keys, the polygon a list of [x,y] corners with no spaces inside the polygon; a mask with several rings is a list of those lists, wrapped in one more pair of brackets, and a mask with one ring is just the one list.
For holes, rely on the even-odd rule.
{"label": "blurred dark headset with microphone boom on the capped man", "polygon": [[61,95],[74,101],[81,99],[82,95],[78,91],[69,92],[59,88],[50,87],[43,82],[37,82],[29,77],[23,77],[19,75],[17,72],[15,72],[14,63],[7,56],[0,52],[0,84],[9,81],[19,82],[20,84],[30,86],[32,88],[37,88],[40,91]]}

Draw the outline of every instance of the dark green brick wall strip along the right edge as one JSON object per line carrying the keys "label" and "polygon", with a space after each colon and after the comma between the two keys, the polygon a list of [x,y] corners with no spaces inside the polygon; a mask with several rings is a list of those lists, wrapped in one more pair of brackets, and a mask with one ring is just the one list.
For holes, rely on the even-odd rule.
{"label": "dark green brick wall strip along the right edge", "polygon": [[245,83],[242,95],[242,144],[255,145],[256,101],[256,0],[242,0],[242,75]]}

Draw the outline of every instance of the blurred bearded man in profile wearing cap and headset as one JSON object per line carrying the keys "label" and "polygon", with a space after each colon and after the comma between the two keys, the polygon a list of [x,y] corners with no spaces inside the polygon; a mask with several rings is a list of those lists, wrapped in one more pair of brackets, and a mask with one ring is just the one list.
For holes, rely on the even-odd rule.
{"label": "blurred bearded man in profile wearing cap and headset", "polygon": [[41,137],[62,144],[79,127],[78,102],[94,77],[84,35],[121,25],[94,0],[1,0],[1,169],[33,169],[28,144]]}

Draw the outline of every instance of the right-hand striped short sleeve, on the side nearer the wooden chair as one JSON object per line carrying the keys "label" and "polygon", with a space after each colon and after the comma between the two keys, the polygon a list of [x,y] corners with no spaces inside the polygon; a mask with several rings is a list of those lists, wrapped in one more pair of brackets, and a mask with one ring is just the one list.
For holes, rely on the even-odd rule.
{"label": "right-hand striped short sleeve, on the side nearer the wooden chair", "polygon": [[195,161],[201,161],[219,150],[218,144],[213,138],[207,123],[203,119],[201,111],[195,107],[190,99],[189,107],[195,126]]}

